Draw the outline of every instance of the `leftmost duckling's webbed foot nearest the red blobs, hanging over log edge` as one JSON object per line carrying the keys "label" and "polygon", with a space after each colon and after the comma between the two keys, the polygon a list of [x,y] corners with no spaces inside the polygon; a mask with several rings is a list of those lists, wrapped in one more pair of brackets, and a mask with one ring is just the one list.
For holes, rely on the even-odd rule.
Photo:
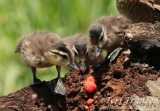
{"label": "leftmost duckling's webbed foot nearest the red blobs, hanging over log edge", "polygon": [[58,78],[57,82],[56,80],[50,81],[49,83],[47,83],[47,86],[53,94],[65,95],[66,93],[66,88],[61,78]]}

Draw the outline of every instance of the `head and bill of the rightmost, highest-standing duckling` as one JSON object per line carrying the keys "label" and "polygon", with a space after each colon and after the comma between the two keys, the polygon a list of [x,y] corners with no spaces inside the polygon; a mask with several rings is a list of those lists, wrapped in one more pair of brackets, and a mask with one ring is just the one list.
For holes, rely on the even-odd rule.
{"label": "head and bill of the rightmost, highest-standing duckling", "polygon": [[103,45],[107,42],[105,28],[101,25],[94,25],[89,30],[91,44],[94,47],[94,57],[98,58]]}

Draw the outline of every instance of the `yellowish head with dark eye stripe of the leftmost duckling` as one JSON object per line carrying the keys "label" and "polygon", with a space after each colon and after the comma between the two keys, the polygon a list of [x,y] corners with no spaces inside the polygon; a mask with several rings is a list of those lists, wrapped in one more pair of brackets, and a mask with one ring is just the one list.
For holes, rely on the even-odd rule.
{"label": "yellowish head with dark eye stripe of the leftmost duckling", "polygon": [[64,66],[71,70],[79,70],[73,60],[70,50],[67,49],[66,45],[62,42],[54,43],[46,48],[44,57],[51,64]]}

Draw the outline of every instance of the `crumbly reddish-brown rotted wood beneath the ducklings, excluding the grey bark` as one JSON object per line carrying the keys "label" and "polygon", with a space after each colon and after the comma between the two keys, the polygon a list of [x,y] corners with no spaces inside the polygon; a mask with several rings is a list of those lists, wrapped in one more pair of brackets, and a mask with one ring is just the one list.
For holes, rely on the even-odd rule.
{"label": "crumbly reddish-brown rotted wood beneath the ducklings, excluding the grey bark", "polygon": [[[145,84],[160,77],[157,63],[150,63],[145,54],[136,53],[135,49],[123,50],[112,63],[104,61],[86,73],[66,74],[65,96],[53,95],[46,82],[25,87],[0,97],[0,111],[135,111],[130,96],[151,96]],[[90,75],[95,78],[97,89],[89,94],[84,89],[84,81]],[[88,106],[86,101],[89,98],[94,101]]]}

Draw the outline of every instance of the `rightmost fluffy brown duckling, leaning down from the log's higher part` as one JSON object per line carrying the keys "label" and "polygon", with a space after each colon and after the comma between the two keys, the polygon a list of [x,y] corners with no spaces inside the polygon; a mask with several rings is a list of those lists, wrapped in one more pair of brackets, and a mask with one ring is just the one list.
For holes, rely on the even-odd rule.
{"label": "rightmost fluffy brown duckling, leaning down from the log's higher part", "polygon": [[95,58],[101,50],[107,50],[107,54],[110,54],[107,60],[112,62],[122,50],[124,30],[130,24],[131,21],[122,15],[102,16],[93,22],[89,29],[89,38],[94,47]]}

